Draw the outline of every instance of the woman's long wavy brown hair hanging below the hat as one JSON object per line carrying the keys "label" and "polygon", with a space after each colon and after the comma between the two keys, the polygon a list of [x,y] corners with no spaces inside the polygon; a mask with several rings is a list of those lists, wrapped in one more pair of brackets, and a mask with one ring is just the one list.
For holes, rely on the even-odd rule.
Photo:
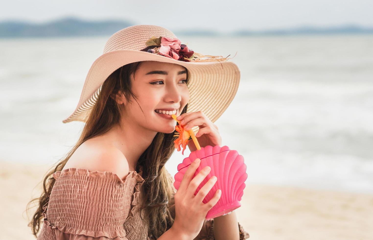
{"label": "woman's long wavy brown hair hanging below the hat", "polygon": [[[49,196],[55,182],[52,174],[56,171],[62,171],[66,162],[82,143],[90,138],[107,133],[115,124],[119,123],[120,110],[117,102],[112,97],[114,94],[123,92],[127,102],[132,103],[132,99],[137,102],[138,98],[131,90],[130,76],[135,73],[140,64],[141,62],[134,62],[124,65],[114,71],[106,81],[104,81],[98,99],[87,119],[78,142],[67,153],[66,157],[57,162],[56,166],[52,167],[53,170],[46,174],[43,181],[43,193],[41,196],[32,199],[28,203],[27,206],[31,205],[34,201],[38,201],[38,209],[28,224],[35,237],[37,237],[37,233],[41,229],[40,224],[42,223],[43,206],[49,201]],[[188,71],[186,79],[188,80]],[[186,112],[187,107],[188,105],[184,107],[181,114]],[[139,210],[146,210],[149,220],[149,232],[156,238],[167,231],[172,226],[174,220],[167,208],[173,192],[172,180],[169,177],[169,173],[164,168],[164,164],[175,150],[173,141],[176,137],[173,135],[174,133],[157,133],[150,146],[138,159],[136,166],[136,171],[139,171],[140,166],[142,166],[142,177],[145,180],[141,187],[144,201],[142,201]],[[26,209],[26,211],[28,209]],[[142,216],[142,214],[140,214],[140,216]]]}

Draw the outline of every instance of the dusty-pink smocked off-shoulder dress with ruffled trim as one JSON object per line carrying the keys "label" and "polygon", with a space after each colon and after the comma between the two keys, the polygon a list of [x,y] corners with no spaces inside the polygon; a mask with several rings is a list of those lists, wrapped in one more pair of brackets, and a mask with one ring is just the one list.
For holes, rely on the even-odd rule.
{"label": "dusty-pink smocked off-shoulder dress with ruffled trim", "polygon": [[[124,180],[113,172],[90,172],[85,168],[63,169],[53,178],[56,181],[43,206],[38,240],[156,240],[137,211],[144,182],[142,169],[138,173],[130,171]],[[173,197],[169,209],[175,217]],[[238,226],[240,239],[248,239],[249,234]],[[213,219],[205,219],[194,240],[213,239]]]}

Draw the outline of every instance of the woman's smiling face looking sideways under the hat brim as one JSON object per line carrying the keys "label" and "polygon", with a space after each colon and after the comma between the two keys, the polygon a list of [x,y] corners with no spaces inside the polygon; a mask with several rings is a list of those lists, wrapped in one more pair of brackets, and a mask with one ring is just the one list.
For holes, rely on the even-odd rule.
{"label": "woman's smiling face looking sideways under the hat brim", "polygon": [[[178,64],[157,61],[144,61],[131,76],[132,91],[138,97],[138,104],[125,106],[125,121],[137,123],[138,127],[148,130],[172,133],[176,121],[167,114],[155,110],[173,108],[179,116],[189,102],[189,90],[186,86],[186,69]],[[143,112],[141,111],[141,106]],[[133,120],[133,121],[132,121]]]}

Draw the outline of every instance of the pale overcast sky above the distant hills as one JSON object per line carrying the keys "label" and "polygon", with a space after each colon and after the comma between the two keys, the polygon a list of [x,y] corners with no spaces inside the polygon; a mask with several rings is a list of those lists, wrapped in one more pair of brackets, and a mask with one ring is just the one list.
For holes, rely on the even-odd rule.
{"label": "pale overcast sky above the distant hills", "polygon": [[46,22],[66,16],[123,19],[176,30],[265,30],[356,24],[373,27],[373,0],[32,0],[1,4],[5,19]]}

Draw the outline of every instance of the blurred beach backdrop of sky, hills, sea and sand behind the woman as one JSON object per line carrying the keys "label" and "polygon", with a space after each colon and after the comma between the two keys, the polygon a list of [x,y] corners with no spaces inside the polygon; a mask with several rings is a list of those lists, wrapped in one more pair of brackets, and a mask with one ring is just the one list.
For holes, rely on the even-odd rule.
{"label": "blurred beach backdrop of sky, hills, sea and sand behind the woman", "polygon": [[[0,239],[34,239],[26,204],[76,143],[63,124],[107,39],[137,24],[236,56],[215,122],[245,158],[250,239],[373,239],[373,2],[8,1],[0,8]],[[189,155],[173,154],[166,167]],[[33,214],[34,209],[29,211]]]}

